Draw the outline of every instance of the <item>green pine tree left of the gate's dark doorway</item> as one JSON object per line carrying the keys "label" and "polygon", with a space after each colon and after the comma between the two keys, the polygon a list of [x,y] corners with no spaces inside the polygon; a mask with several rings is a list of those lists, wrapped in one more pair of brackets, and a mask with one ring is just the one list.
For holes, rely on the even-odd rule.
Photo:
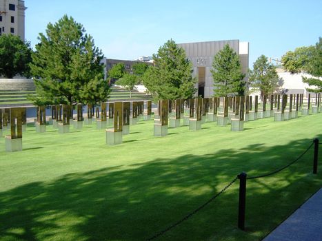
{"label": "green pine tree left of the gate's dark doorway", "polygon": [[143,83],[154,101],[192,98],[196,92],[196,78],[192,78],[192,64],[171,39],[153,54],[154,67],[150,66],[143,75]]}

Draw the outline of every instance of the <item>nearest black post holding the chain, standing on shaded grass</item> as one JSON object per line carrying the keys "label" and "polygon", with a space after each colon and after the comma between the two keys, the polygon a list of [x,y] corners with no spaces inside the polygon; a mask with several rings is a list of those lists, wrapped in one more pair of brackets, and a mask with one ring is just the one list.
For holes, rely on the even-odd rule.
{"label": "nearest black post holding the chain, standing on shaded grass", "polygon": [[239,211],[238,211],[238,227],[245,230],[245,204],[246,204],[246,178],[247,174],[242,172],[239,178]]}

